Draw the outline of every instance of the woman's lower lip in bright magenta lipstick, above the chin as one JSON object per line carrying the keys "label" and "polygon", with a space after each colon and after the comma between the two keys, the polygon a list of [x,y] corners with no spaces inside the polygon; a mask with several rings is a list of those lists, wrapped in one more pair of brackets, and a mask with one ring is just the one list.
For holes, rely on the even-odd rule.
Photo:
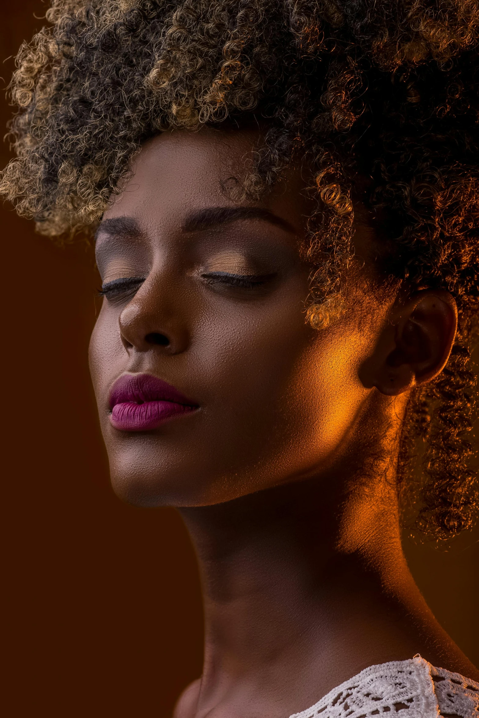
{"label": "woman's lower lip in bright magenta lipstick, above the chin", "polygon": [[174,416],[189,414],[191,411],[194,411],[193,406],[176,404],[174,401],[145,401],[143,404],[125,401],[113,406],[110,422],[121,432],[148,432]]}

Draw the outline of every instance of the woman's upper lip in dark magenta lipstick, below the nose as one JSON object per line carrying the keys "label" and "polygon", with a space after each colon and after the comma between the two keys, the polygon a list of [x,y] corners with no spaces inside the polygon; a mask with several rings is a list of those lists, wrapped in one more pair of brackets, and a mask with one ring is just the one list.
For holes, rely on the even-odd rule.
{"label": "woman's upper lip in dark magenta lipstick, below the nose", "polygon": [[172,401],[184,406],[198,406],[174,386],[151,374],[122,374],[110,388],[110,409],[127,401],[144,404],[147,401]]}

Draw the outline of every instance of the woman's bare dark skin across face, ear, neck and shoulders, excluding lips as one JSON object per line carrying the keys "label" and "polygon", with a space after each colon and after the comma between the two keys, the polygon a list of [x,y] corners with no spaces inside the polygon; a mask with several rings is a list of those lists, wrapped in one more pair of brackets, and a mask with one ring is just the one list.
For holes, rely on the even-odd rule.
{"label": "woman's bare dark skin across face, ear, neck and shoulders, excluding lips", "polygon": [[[313,329],[301,172],[257,202],[224,190],[258,139],[149,141],[98,232],[103,281],[135,279],[107,294],[90,345],[113,488],[179,508],[204,590],[204,672],[176,718],[288,718],[416,653],[478,679],[409,573],[394,485],[408,392],[444,367],[455,302],[373,291],[374,238],[358,225],[344,311]],[[199,409],[114,429],[108,392],[125,372]]]}

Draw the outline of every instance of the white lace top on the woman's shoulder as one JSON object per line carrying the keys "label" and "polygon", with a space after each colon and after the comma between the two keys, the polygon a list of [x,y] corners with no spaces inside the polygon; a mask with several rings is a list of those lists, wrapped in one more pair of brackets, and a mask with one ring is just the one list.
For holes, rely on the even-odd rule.
{"label": "white lace top on the woman's shoulder", "polygon": [[400,718],[479,718],[479,684],[415,656],[370,666],[290,718],[369,718],[390,711]]}

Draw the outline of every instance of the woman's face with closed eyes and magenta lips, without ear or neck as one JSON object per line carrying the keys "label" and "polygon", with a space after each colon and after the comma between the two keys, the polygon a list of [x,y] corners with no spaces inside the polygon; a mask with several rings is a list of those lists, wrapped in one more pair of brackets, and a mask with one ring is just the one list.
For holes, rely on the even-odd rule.
{"label": "woman's face with closed eyes and magenta lips, without ear or neck", "polygon": [[207,505],[321,473],[369,396],[372,299],[374,322],[353,299],[326,329],[305,322],[300,173],[258,202],[224,189],[256,140],[157,136],[100,225],[90,366],[113,488],[131,503]]}

